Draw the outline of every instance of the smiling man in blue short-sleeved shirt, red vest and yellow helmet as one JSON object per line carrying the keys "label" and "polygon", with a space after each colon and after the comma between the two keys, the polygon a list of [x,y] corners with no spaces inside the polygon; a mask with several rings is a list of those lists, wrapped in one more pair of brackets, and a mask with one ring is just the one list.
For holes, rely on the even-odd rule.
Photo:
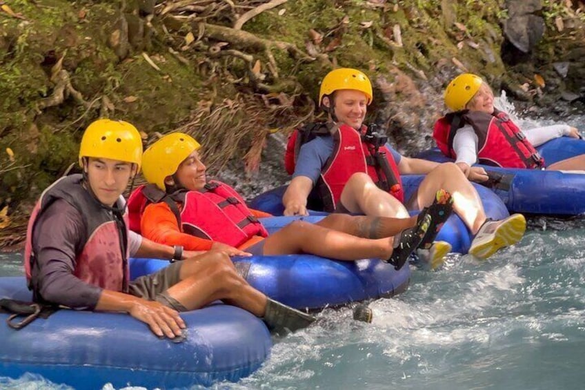
{"label": "smiling man in blue short-sleeved shirt, red vest and yellow helmet", "polygon": [[[402,202],[396,193],[378,188],[375,182],[379,180],[373,177],[372,170],[364,168],[365,164],[356,164],[360,162],[359,156],[355,157],[356,150],[364,150],[361,158],[364,162],[371,159],[368,148],[362,148],[364,141],[358,141],[357,145],[348,144],[352,133],[348,128],[359,135],[364,134],[364,118],[372,97],[370,80],[359,70],[339,68],[326,75],[321,83],[319,104],[329,114],[330,135],[315,137],[299,149],[295,156],[293,179],[283,196],[284,215],[307,215],[307,199],[315,186],[330,189],[336,211],[384,217],[408,217],[408,210],[429,206],[437,191],[444,189],[453,194],[455,213],[474,235],[469,249],[472,255],[487,258],[499,248],[515,244],[522,238],[526,229],[524,217],[515,214],[505,220],[487,220],[477,191],[453,163],[439,164],[406,157],[386,144],[388,165],[395,168],[398,176],[426,177],[417,192],[410,199],[402,199]],[[344,164],[344,159],[349,158],[345,157],[349,156],[348,153],[354,153],[354,157],[351,157],[350,163]],[[483,168],[471,169],[478,181],[488,178]],[[335,184],[339,177],[347,179],[342,191],[336,193]],[[426,247],[428,253],[422,254],[431,264],[442,263],[439,260],[450,251],[446,243],[427,243]]]}

